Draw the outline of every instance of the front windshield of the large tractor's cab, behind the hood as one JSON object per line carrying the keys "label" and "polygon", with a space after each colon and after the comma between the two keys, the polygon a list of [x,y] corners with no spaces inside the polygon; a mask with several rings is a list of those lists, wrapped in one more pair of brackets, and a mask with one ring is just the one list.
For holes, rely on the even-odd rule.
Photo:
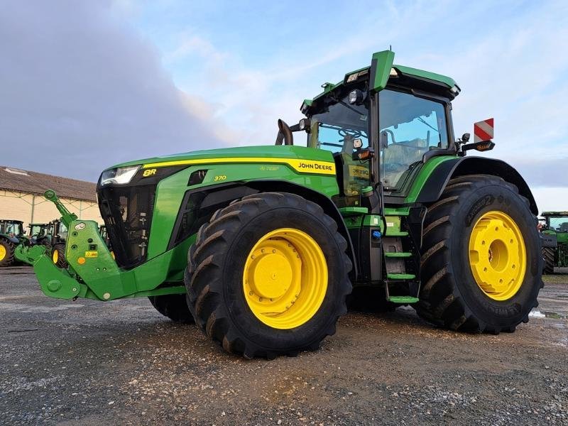
{"label": "front windshield of the large tractor's cab, behind the hood", "polygon": [[[349,104],[349,97],[337,99],[327,111],[312,116],[307,145],[334,153],[342,197],[339,204],[359,205],[359,194],[369,185],[370,162],[353,160],[359,148],[368,148],[368,107]],[[350,199],[349,197],[353,197]]]}

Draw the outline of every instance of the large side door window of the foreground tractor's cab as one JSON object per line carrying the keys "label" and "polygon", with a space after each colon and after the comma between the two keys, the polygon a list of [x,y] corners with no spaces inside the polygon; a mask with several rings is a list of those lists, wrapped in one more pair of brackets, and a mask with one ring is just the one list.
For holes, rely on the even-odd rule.
{"label": "large side door window of the foreground tractor's cab", "polygon": [[448,148],[445,108],[441,102],[394,90],[383,90],[378,99],[381,182],[397,191],[427,151]]}

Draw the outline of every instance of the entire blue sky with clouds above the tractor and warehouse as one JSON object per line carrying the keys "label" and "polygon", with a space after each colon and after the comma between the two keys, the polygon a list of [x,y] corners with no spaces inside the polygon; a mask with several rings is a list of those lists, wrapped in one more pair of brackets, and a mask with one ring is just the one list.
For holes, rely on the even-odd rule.
{"label": "entire blue sky with clouds above the tractor and warehouse", "polygon": [[279,117],[392,45],[457,80],[457,134],[495,117],[491,156],[540,209],[568,208],[567,1],[2,4],[4,165],[97,180],[123,160],[271,144]]}

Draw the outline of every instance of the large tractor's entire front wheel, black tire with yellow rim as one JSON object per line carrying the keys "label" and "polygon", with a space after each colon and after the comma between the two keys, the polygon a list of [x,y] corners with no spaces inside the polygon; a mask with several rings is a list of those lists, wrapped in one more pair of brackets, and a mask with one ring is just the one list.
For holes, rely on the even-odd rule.
{"label": "large tractor's entire front wheel, black tire with yellow rim", "polygon": [[337,224],[289,193],[243,197],[197,234],[185,274],[205,334],[246,358],[294,356],[335,333],[351,292]]}

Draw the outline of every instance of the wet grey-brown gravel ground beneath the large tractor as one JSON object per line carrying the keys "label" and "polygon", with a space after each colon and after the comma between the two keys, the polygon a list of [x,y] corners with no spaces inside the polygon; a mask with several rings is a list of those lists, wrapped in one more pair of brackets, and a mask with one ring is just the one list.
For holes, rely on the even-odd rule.
{"label": "wet grey-brown gravel ground beneath the large tractor", "polygon": [[0,424],[568,425],[568,275],[545,282],[512,334],[435,329],[407,307],[246,361],[146,299],[50,299],[30,268],[2,268]]}

